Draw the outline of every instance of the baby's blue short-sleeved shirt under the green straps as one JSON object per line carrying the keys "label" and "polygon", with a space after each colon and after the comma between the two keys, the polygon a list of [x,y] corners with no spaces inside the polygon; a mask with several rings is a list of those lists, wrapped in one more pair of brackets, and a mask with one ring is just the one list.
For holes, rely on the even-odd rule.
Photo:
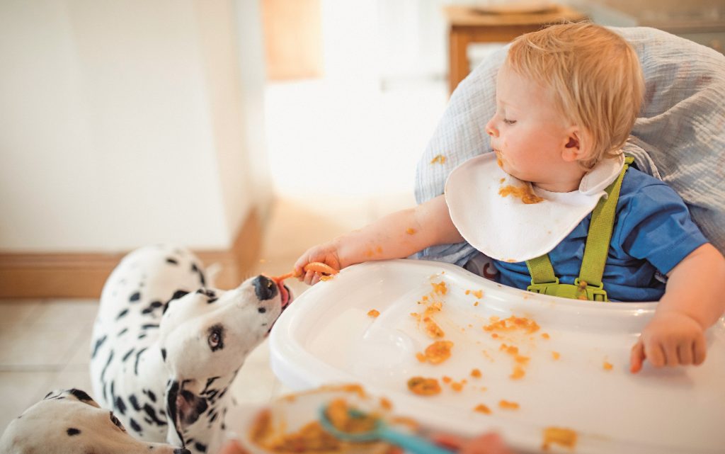
{"label": "baby's blue short-sleeved shirt under the green straps", "polygon": [[[592,214],[549,252],[554,273],[562,284],[579,277],[584,244]],[[665,275],[690,252],[707,243],[689,210],[666,183],[637,169],[626,171],[617,202],[616,218],[602,282],[609,300],[658,301]],[[526,262],[494,260],[501,284],[526,289],[531,275]]]}

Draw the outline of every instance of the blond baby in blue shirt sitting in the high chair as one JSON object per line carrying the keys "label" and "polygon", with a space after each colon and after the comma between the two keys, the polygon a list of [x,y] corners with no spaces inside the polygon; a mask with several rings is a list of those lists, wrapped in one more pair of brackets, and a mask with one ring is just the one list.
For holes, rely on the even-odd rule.
{"label": "blond baby in blue shirt sitting in the high chair", "polygon": [[[607,197],[599,200],[594,213],[591,207],[583,212],[581,222],[561,231],[555,237],[560,241],[547,247],[542,257],[506,260],[469,241],[494,259],[502,284],[583,299],[659,300],[655,315],[632,347],[633,372],[639,371],[645,358],[656,367],[702,363],[704,331],[725,310],[721,253],[692,223],[687,206],[671,188],[624,164],[621,147],[637,118],[643,92],[634,49],[599,25],[553,25],[516,38],[499,70],[496,112],[486,124],[500,168],[494,165],[476,178],[498,184],[496,171],[502,169],[516,181],[530,182],[535,194],[523,194],[527,197],[511,205],[526,215],[538,202],[577,192],[590,194],[584,187],[607,174],[602,169],[615,171],[610,172],[612,178],[605,178]],[[308,249],[295,263],[295,272],[307,284],[315,284],[319,276],[302,269],[310,262],[341,269],[369,260],[408,257],[436,244],[463,242],[481,233],[476,229],[485,230],[452,217],[454,205],[449,207],[452,201],[447,202],[446,192]],[[602,269],[597,286],[581,279],[585,268],[591,268],[582,260],[587,263],[587,255],[595,254],[592,251],[601,242],[595,239],[600,228],[597,235],[589,228],[593,218],[607,218],[602,212],[608,210],[608,199],[613,201],[610,221],[596,221],[597,226],[609,224],[599,248]],[[487,203],[485,198],[481,203]],[[531,229],[548,228],[545,223],[532,219]],[[505,225],[495,228],[506,232]],[[552,276],[553,290],[534,285],[542,269],[556,276]]]}

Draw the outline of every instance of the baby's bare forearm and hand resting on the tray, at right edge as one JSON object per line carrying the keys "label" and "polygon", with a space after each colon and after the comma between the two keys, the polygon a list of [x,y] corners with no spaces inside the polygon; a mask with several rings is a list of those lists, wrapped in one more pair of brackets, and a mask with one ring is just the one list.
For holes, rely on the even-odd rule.
{"label": "baby's bare forearm and hand resting on the tray, at right edge", "polygon": [[725,259],[703,244],[668,273],[665,294],[631,351],[630,368],[642,361],[655,367],[700,364],[705,360],[705,329],[725,311]]}

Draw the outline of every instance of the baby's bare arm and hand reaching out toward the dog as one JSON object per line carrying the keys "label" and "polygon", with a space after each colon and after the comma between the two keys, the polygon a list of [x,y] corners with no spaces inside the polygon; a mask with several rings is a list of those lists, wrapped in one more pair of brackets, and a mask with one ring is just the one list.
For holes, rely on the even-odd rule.
{"label": "baby's bare arm and hand reaching out toward the dog", "polygon": [[294,273],[307,284],[315,284],[320,276],[314,271],[305,272],[307,263],[322,262],[340,270],[370,260],[408,257],[434,244],[462,241],[441,195],[307,249],[294,263]]}

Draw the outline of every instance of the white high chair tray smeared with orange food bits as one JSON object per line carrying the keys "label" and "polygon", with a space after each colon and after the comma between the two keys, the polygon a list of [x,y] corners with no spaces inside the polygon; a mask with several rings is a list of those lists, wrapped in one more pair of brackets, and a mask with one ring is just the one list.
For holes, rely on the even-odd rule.
{"label": "white high chair tray smeared with orange food bits", "polygon": [[[433,292],[431,284],[440,282],[444,295]],[[474,294],[479,289],[480,299]],[[418,303],[423,297],[428,302]],[[434,339],[410,315],[423,313],[431,300],[442,302],[433,318],[443,339],[454,343],[450,358],[437,365],[416,358]],[[444,263],[365,263],[294,301],[272,330],[270,363],[292,389],[357,382],[392,400],[393,413],[423,426],[466,436],[495,430],[526,452],[539,452],[544,428],[554,426],[572,429],[578,439],[573,451],[552,445],[549,452],[722,453],[725,321],[708,330],[702,366],[655,369],[645,362],[632,374],[630,348],[655,306],[532,294]],[[373,309],[377,318],[368,315]],[[540,328],[483,329],[492,317],[511,315]],[[515,355],[502,344],[529,358],[520,363],[521,378],[512,378]],[[480,378],[471,376],[473,368]],[[438,379],[442,392],[414,395],[407,389],[413,376]],[[465,379],[463,389],[455,391],[443,376]],[[519,408],[500,408],[501,400]],[[479,404],[491,414],[474,411]]]}

